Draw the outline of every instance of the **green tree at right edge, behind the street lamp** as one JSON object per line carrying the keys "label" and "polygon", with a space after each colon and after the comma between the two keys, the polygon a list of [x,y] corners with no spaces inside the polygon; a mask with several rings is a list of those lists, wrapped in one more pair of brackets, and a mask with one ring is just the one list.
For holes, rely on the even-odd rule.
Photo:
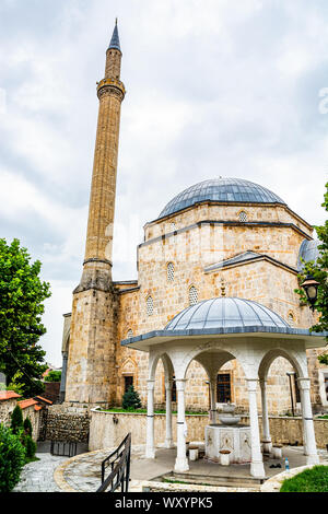
{"label": "green tree at right edge, behind the street lamp", "polygon": [[[323,207],[328,212],[328,183],[326,184],[325,201]],[[300,285],[305,280],[307,274],[312,274],[315,280],[319,282],[318,297],[315,304],[316,311],[319,313],[319,320],[314,325],[311,330],[315,332],[328,331],[328,220],[324,225],[315,226],[315,230],[320,242],[318,249],[320,252],[317,261],[304,262],[304,269],[298,274]],[[307,303],[306,294],[302,288],[296,292],[301,296],[302,303]],[[328,338],[326,338],[328,340]],[[328,353],[325,352],[319,355],[319,361],[323,364],[328,364]]]}

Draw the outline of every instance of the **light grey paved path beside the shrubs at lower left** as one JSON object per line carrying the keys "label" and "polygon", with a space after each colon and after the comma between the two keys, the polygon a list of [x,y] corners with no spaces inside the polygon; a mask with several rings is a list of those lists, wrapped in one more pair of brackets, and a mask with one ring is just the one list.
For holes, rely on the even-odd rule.
{"label": "light grey paved path beside the shrubs at lower left", "polygon": [[24,466],[21,481],[13,492],[62,492],[55,482],[54,471],[67,457],[54,457],[45,453],[37,453],[36,457],[39,460]]}

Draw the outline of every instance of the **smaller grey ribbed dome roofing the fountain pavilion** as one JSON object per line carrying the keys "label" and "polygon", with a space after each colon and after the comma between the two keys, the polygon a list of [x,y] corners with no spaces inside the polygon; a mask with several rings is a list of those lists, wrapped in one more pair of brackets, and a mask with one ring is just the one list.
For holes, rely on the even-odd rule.
{"label": "smaller grey ribbed dome roofing the fountain pavilion", "polygon": [[216,297],[185,308],[165,330],[224,329],[246,327],[291,328],[278,314],[250,300]]}

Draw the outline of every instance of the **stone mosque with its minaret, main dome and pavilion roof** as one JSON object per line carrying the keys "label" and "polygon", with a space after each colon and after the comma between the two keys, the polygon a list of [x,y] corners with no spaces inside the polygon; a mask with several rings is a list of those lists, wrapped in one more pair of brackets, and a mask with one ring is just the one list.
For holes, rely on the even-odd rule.
{"label": "stone mosque with its minaret, main dome and pavilion roof", "polygon": [[[259,335],[268,344],[268,411],[286,413],[291,404],[301,409],[300,379],[305,379],[301,372],[305,376],[308,372],[312,408],[327,408],[328,367],[317,360],[323,352],[317,346],[323,347],[324,339],[313,342],[304,336],[316,314],[294,292],[304,260],[318,256],[314,230],[266,187],[215,176],[178,192],[144,226],[138,279],[113,281],[119,124],[126,95],[121,58],[116,25],[105,78],[97,84],[99,112],[83,272],[73,292],[72,313],[65,315],[62,399],[77,406],[119,406],[132,384],[143,405],[152,389],[155,408],[165,408],[168,397],[176,408],[183,378],[176,376],[177,367],[165,349],[152,360],[150,376],[150,351],[168,341],[174,355],[175,344],[184,343],[174,342],[179,330],[179,337],[201,338],[200,350],[190,350],[184,372],[187,410],[209,411],[210,406],[227,402],[248,409],[245,362],[251,361],[248,344],[258,343]],[[209,344],[219,335],[221,358],[215,367]],[[236,336],[244,353],[231,350]],[[295,341],[302,342],[297,348],[305,358]],[[204,352],[207,359],[201,358]],[[260,405],[260,390],[256,394]]]}

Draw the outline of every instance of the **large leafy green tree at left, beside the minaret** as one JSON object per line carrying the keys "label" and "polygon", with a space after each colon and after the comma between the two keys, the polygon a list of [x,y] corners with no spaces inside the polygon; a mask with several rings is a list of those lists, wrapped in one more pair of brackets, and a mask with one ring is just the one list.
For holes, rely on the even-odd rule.
{"label": "large leafy green tree at left, beside the minaret", "polygon": [[37,342],[46,332],[43,302],[50,296],[50,285],[42,282],[40,266],[31,262],[19,240],[0,240],[0,372],[25,397],[42,393],[39,378],[47,369]]}

